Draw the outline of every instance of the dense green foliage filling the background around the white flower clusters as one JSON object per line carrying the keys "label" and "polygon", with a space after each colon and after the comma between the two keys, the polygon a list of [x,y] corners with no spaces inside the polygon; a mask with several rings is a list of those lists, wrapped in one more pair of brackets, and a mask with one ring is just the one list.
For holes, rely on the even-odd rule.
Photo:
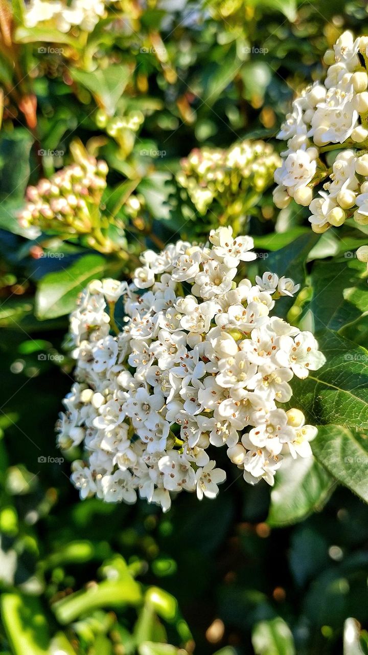
{"label": "dense green foliage filling the background around the white flower clusters", "polygon": [[[201,204],[210,184],[188,159],[244,140],[278,153],[323,52],[367,32],[365,3],[121,0],[89,34],[29,28],[25,11],[0,1],[0,654],[367,654],[367,228],[314,234],[306,208],[278,212],[269,162],[260,187],[226,170]],[[20,225],[29,185],[91,156],[109,168],[92,237]],[[167,515],[80,502],[54,436],[77,294],[227,223],[255,237],[249,275],[301,284],[281,305],[327,358],[293,384],[315,459],[272,491],[230,474],[216,500],[179,496]]]}

